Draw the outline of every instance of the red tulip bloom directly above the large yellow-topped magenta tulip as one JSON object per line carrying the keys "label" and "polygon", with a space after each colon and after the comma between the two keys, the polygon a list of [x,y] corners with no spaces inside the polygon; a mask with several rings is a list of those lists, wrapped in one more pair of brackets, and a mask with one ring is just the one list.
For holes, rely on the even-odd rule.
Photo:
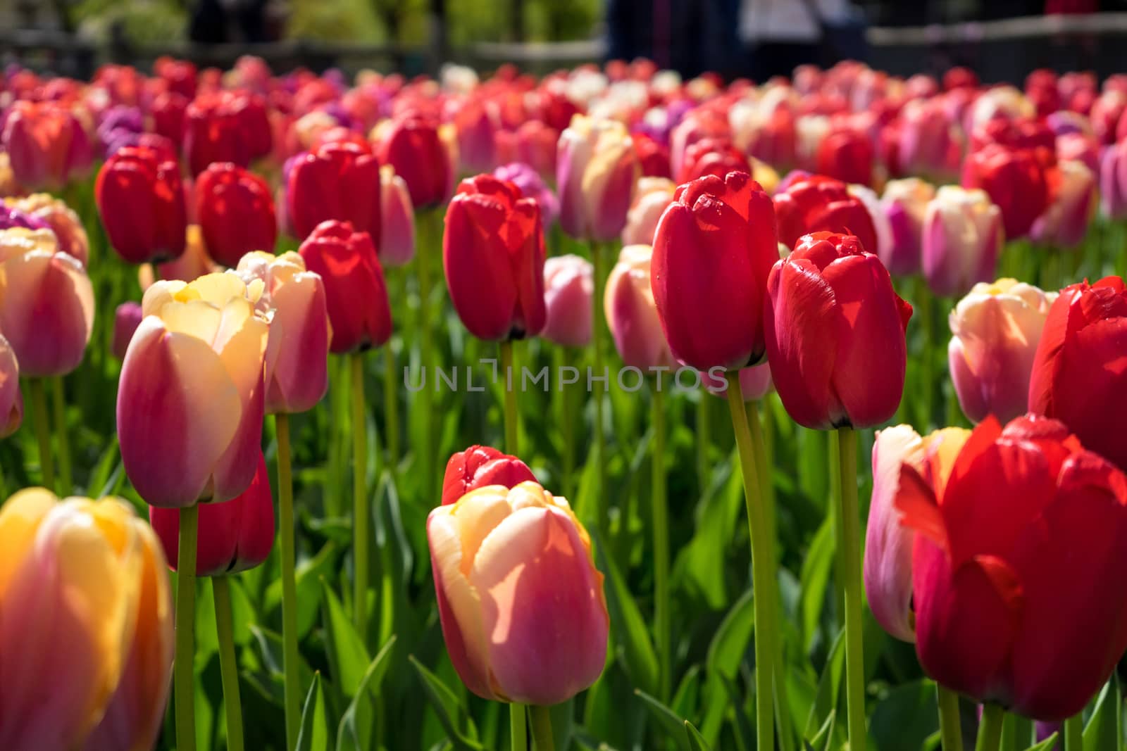
{"label": "red tulip bloom directly above the large yellow-topped magenta tulip", "polygon": [[236,267],[252,250],[274,250],[277,220],[266,180],[231,162],[213,162],[196,178],[196,221],[207,254]]}

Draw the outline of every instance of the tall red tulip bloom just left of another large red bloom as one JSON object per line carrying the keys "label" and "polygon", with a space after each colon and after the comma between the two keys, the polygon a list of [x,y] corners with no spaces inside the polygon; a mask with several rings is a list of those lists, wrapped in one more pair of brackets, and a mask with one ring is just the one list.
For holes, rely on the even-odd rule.
{"label": "tall red tulip bloom just left of another large red bloom", "polygon": [[655,232],[650,279],[674,357],[699,370],[757,363],[778,258],[771,198],[746,172],[680,186]]}

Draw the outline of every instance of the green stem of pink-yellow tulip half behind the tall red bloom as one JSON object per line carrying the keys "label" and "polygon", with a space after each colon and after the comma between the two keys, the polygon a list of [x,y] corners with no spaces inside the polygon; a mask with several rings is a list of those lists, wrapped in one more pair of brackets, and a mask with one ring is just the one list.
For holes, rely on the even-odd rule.
{"label": "green stem of pink-yellow tulip half behind the tall red bloom", "polygon": [[[654,386],[654,475],[650,488],[654,504],[654,636],[660,676],[658,698],[668,701],[673,681],[673,631],[669,618],[669,508],[665,485],[665,392],[662,391],[660,373]],[[535,722],[536,708],[533,707],[532,712]]]}

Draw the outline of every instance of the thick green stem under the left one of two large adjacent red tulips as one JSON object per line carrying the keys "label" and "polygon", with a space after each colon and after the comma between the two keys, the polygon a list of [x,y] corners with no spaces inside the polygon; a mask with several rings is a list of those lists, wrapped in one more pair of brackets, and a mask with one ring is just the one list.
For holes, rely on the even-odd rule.
{"label": "thick green stem under the left one of two large adjacent red tulips", "polygon": [[757,749],[774,749],[773,665],[780,664],[774,654],[778,644],[774,592],[775,562],[763,502],[760,495],[758,473],[755,468],[755,449],[747,412],[739,391],[739,373],[729,370],[728,411],[736,433],[739,466],[744,480],[744,503],[747,507],[747,529],[752,539],[752,587],[755,591],[755,739]]}

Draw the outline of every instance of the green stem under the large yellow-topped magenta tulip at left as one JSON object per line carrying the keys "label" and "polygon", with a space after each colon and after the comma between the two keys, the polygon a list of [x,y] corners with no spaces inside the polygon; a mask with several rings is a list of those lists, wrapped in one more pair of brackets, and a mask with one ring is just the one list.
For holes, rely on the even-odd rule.
{"label": "green stem under the large yellow-topped magenta tulip at left", "polygon": [[196,537],[199,507],[180,509],[180,539],[176,555],[176,659],[172,680],[176,694],[176,749],[195,751],[195,634]]}

